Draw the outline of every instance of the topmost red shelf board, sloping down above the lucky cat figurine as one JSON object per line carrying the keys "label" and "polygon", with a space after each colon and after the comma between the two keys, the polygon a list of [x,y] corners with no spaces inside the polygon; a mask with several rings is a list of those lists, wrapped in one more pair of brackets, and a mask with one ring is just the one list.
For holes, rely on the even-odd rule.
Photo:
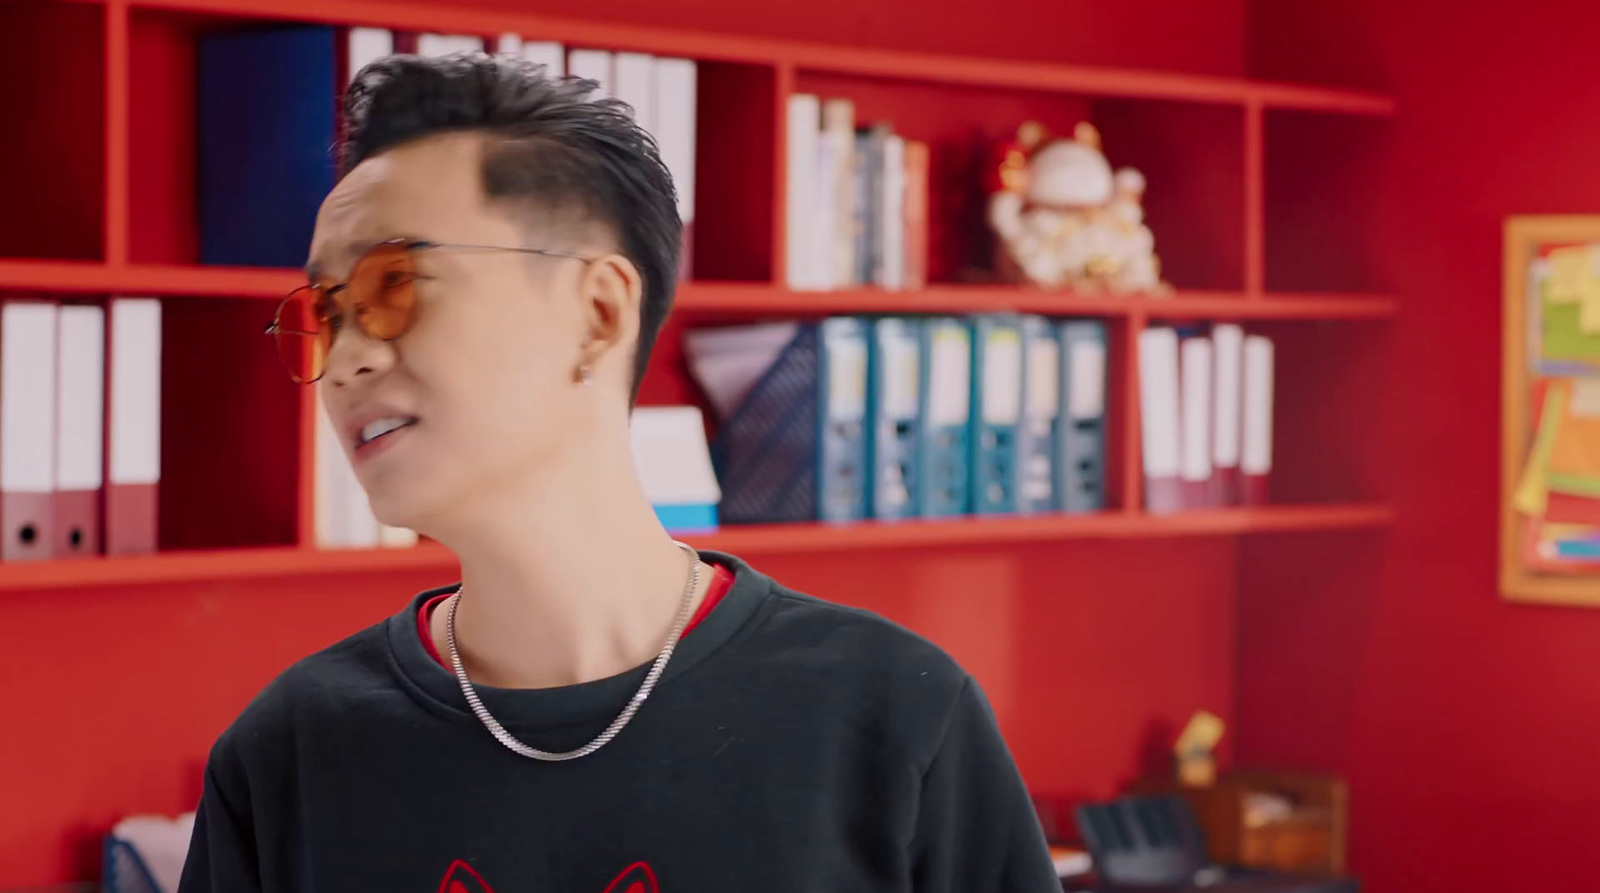
{"label": "topmost red shelf board, sloping down above the lucky cat figurine", "polygon": [[1282,106],[1355,115],[1392,115],[1394,101],[1381,94],[1262,83],[1246,78],[1186,75],[1094,66],[986,59],[939,53],[909,53],[746,37],[734,34],[640,27],[584,19],[485,10],[470,5],[429,8],[392,0],[133,0],[134,10],[170,10],[296,19],[333,24],[371,24],[454,34],[538,34],[568,45],[605,46],[821,72],[886,77],[1021,90],[1059,90],[1131,99],[1176,99]]}

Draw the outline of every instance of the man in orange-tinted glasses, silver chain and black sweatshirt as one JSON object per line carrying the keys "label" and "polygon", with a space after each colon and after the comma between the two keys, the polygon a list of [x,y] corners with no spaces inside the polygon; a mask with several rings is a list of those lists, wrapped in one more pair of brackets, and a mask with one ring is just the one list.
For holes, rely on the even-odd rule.
{"label": "man in orange-tinted glasses, silver chain and black sweatshirt", "polygon": [[462,584],[256,698],[181,890],[1058,891],[950,658],[656,522],[627,424],[680,224],[592,86],[477,54],[350,88],[275,338]]}

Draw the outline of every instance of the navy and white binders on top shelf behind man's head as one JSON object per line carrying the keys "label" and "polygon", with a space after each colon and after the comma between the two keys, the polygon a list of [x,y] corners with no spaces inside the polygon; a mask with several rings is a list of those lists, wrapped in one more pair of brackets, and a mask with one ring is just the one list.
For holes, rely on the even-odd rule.
{"label": "navy and white binders on top shelf behind man's head", "polygon": [[[626,102],[656,139],[678,192],[685,251],[694,221],[696,64],[646,53],[568,50],[560,43],[376,27],[293,26],[208,34],[198,54],[200,259],[206,264],[306,262],[317,206],[333,189],[334,96],[368,62],[392,53],[494,51],[590,78]],[[250,96],[240,102],[240,96]],[[686,261],[685,261],[686,264]],[[686,267],[682,275],[688,275]]]}

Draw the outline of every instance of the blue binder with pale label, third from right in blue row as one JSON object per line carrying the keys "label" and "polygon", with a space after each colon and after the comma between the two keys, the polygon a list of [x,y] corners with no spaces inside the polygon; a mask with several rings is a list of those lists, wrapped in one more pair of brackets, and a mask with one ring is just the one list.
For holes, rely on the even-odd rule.
{"label": "blue binder with pale label, third from right in blue row", "polygon": [[973,317],[973,514],[1016,512],[1016,434],[1022,421],[1022,325]]}

